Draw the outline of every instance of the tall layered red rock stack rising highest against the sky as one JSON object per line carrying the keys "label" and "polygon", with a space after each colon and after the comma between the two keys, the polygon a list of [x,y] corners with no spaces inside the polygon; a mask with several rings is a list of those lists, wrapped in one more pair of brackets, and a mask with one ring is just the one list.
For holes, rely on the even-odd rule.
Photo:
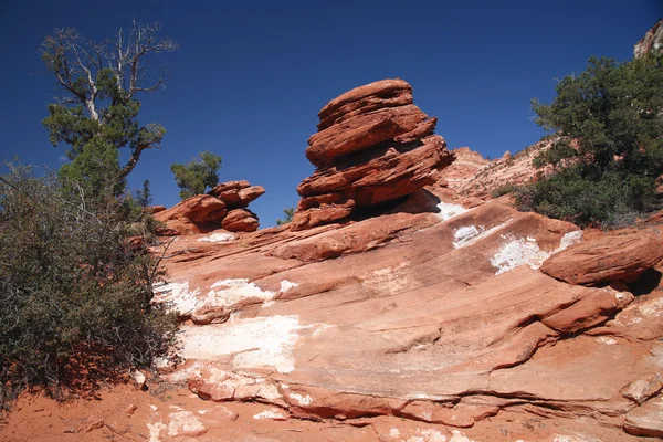
{"label": "tall layered red rock stack rising highest against the sky", "polygon": [[402,80],[356,87],[318,116],[306,148],[316,171],[297,188],[302,200],[293,230],[339,222],[411,194],[453,161],[444,139],[433,134],[438,119],[413,104],[412,87]]}

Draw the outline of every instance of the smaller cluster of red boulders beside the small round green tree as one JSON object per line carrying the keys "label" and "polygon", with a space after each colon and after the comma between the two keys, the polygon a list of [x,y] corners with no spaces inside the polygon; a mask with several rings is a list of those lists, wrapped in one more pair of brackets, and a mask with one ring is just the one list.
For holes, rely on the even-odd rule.
{"label": "smaller cluster of red boulders beside the small round green tree", "polygon": [[259,220],[248,207],[264,192],[263,187],[251,186],[249,181],[222,182],[207,194],[155,211],[155,218],[166,223],[164,234],[208,233],[217,229],[253,232],[257,230]]}

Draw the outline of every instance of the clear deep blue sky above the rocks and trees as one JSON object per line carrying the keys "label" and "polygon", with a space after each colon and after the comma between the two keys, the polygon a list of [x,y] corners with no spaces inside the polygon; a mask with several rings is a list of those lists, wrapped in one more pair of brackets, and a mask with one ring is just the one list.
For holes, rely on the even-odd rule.
{"label": "clear deep blue sky above the rocks and trees", "polygon": [[178,201],[169,166],[201,150],[223,157],[221,180],[267,192],[252,203],[261,227],[296,206],[313,167],[304,156],[317,112],[355,86],[401,77],[439,117],[450,148],[484,156],[537,141],[529,101],[548,102],[555,78],[591,55],[632,56],[663,17],[662,0],[556,1],[125,1],[0,0],[0,157],[57,168],[65,147],[41,126],[57,93],[36,48],[53,28],[101,39],[131,17],[158,21],[180,49],[167,54],[167,96],[145,97],[141,123],[162,124],[161,150],[130,176],[155,203]]}

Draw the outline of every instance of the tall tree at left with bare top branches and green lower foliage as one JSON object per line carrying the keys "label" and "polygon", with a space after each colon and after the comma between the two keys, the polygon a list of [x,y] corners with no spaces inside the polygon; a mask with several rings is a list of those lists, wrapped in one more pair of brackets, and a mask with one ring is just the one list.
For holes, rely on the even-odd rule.
{"label": "tall tree at left with bare top branches and green lower foliage", "polygon": [[[156,84],[143,84],[146,57],[177,48],[168,39],[159,40],[159,30],[134,21],[129,33],[120,29],[113,39],[96,43],[75,30],[60,29],[41,44],[42,63],[61,92],[42,123],[54,146],[69,145],[72,162],[63,167],[62,178],[92,197],[91,203],[119,196],[143,151],[160,147],[166,130],[138,123],[136,99],[139,93],[162,88],[166,81],[162,72]],[[125,166],[119,149],[129,151]]]}

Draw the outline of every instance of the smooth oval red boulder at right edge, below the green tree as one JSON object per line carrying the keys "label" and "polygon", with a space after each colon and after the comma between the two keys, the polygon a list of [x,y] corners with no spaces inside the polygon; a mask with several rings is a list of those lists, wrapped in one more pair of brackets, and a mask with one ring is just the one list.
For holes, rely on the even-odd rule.
{"label": "smooth oval red boulder at right edge, below the green tree", "polygon": [[642,234],[606,235],[550,256],[541,272],[569,284],[632,280],[663,260],[663,241]]}

